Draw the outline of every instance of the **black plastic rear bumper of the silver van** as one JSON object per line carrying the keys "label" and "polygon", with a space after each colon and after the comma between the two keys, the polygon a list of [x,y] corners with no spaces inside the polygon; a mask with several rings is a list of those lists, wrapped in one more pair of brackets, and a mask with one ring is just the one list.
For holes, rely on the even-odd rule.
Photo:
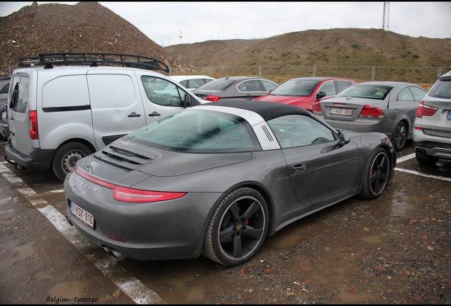
{"label": "black plastic rear bumper of the silver van", "polygon": [[52,163],[54,149],[36,149],[30,150],[30,155],[27,156],[18,152],[11,145],[11,139],[8,139],[8,145],[5,147],[5,159],[6,162],[13,164],[14,166],[21,166],[22,168],[30,170],[48,170]]}

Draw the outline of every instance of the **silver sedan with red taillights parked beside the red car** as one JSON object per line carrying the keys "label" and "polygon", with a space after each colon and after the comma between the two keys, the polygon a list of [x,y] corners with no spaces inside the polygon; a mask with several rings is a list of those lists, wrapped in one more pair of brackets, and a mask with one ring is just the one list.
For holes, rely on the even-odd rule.
{"label": "silver sedan with red taillights parked beside the red car", "polygon": [[338,130],[382,132],[401,151],[412,139],[416,111],[426,93],[411,83],[364,82],[316,103],[313,113]]}

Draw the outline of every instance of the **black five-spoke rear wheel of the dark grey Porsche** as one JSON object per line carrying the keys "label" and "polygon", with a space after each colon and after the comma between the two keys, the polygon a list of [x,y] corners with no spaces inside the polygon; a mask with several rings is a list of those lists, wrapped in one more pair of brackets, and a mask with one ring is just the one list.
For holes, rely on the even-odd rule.
{"label": "black five-spoke rear wheel of the dark grey Porsche", "polygon": [[221,200],[211,215],[202,254],[223,266],[245,263],[265,241],[268,222],[262,195],[251,188],[237,188]]}

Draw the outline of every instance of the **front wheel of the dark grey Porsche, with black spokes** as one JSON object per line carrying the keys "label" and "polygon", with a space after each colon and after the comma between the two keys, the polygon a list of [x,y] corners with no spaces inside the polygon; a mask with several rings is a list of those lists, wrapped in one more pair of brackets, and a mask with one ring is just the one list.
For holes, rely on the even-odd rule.
{"label": "front wheel of the dark grey Porsche, with black spokes", "polygon": [[365,166],[360,196],[367,199],[379,197],[385,189],[389,176],[389,156],[384,149],[379,147],[373,152]]}

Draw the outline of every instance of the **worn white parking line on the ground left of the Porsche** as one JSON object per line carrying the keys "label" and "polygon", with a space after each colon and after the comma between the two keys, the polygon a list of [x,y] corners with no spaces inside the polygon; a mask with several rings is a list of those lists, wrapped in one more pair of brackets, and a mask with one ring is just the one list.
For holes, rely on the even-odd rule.
{"label": "worn white parking line on the ground left of the Porsche", "polygon": [[[14,188],[17,189],[37,210],[39,210],[45,217],[47,217],[52,225],[60,231],[63,236],[69,240],[74,246],[82,251],[87,259],[94,263],[104,276],[108,277],[115,283],[118,288],[128,295],[136,304],[165,304],[165,302],[149,288],[147,288],[140,280],[127,276],[127,271],[116,264],[112,256],[105,254],[104,258],[96,259],[94,256],[89,256],[89,247],[92,246],[90,242],[80,234],[75,227],[69,225],[66,217],[62,215],[56,208],[48,204],[38,194],[29,188],[20,178],[18,178],[11,170],[9,170],[3,163],[0,164],[0,174],[7,179]],[[47,204],[47,205],[46,205]],[[127,277],[124,277],[127,276]]]}

